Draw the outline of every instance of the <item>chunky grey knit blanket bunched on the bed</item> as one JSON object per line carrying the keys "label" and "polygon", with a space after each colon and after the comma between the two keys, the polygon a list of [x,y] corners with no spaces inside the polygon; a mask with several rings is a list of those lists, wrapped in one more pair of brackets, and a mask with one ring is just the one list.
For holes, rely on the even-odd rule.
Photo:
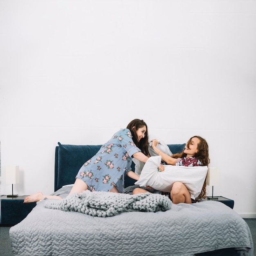
{"label": "chunky grey knit blanket bunched on the bed", "polygon": [[140,193],[130,195],[103,191],[83,191],[79,194],[68,195],[63,200],[48,200],[45,207],[106,217],[126,211],[166,211],[171,209],[171,204],[170,199],[160,194]]}

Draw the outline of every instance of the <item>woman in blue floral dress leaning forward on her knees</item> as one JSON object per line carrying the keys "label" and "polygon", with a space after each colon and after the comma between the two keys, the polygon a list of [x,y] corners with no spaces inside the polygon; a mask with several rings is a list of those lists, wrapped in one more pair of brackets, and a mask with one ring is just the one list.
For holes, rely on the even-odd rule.
{"label": "woman in blue floral dress leaning forward on her knees", "polygon": [[[81,193],[87,189],[122,193],[124,175],[139,180],[139,176],[131,171],[132,157],[146,163],[148,156],[147,125],[141,119],[134,119],[126,129],[116,132],[94,157],[83,164],[70,194]],[[159,170],[163,169],[163,166],[159,166]],[[27,196],[24,202],[37,202],[44,198],[62,199],[56,195],[43,195],[38,192]]]}

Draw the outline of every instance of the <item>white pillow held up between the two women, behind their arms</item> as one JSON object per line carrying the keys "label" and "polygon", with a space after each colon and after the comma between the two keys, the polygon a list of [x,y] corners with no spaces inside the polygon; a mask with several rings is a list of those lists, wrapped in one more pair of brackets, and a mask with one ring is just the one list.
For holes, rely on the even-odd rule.
{"label": "white pillow held up between the two women, behind their arms", "polygon": [[[157,138],[155,135],[151,135],[151,134],[148,135],[148,141],[151,141],[152,139],[157,139],[157,141],[158,141],[157,149],[161,150],[162,152],[164,152],[167,155],[170,155],[170,156],[173,155],[171,153],[170,148],[167,146],[167,144],[164,143],[164,141],[162,141],[162,139]],[[153,150],[151,145],[152,145],[152,142],[149,142],[148,152],[149,152],[150,156],[151,157],[152,156],[157,156],[157,153],[155,153],[155,151]],[[133,157],[132,161],[135,163],[135,173],[137,175],[140,175],[141,174],[141,170],[144,167],[145,163],[137,160],[134,157]]]}

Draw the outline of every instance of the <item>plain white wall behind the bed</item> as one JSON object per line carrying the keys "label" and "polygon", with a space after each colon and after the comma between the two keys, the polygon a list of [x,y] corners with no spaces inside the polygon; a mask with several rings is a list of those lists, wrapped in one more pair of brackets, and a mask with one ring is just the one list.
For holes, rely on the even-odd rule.
{"label": "plain white wall behind the bed", "polygon": [[[0,0],[1,194],[54,191],[54,150],[134,118],[207,139],[214,189],[256,218],[256,1]],[[211,188],[209,188],[211,195]]]}

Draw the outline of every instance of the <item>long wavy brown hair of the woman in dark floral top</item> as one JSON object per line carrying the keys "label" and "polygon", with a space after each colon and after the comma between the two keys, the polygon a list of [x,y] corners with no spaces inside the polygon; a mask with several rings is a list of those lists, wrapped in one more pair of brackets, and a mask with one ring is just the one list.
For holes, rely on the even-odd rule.
{"label": "long wavy brown hair of the woman in dark floral top", "polygon": [[[198,158],[203,166],[208,166],[208,164],[210,163],[210,159],[209,159],[209,147],[208,147],[207,141],[200,136],[193,136],[189,139],[189,141],[187,142],[186,145],[189,146],[189,144],[193,138],[198,138],[200,140],[200,142],[198,143],[198,153],[195,153],[195,155],[193,155],[193,157]],[[184,149],[182,150],[181,153],[174,154],[174,155],[172,155],[172,157],[173,158],[186,157],[186,154],[184,153]],[[207,173],[207,175],[208,175],[208,173]],[[197,197],[198,200],[206,198],[207,175],[204,180],[202,191],[201,191],[200,195],[198,195],[198,197]]]}

